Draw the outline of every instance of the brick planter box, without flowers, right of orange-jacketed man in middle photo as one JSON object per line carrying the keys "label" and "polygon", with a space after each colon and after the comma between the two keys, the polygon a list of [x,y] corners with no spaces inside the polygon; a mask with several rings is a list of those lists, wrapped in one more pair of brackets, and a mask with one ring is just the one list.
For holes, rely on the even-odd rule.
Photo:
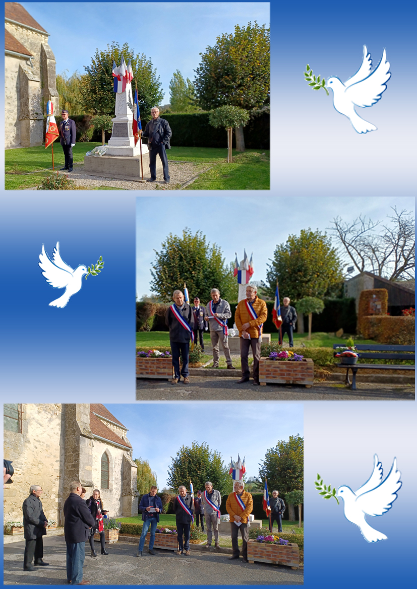
{"label": "brick planter box, without flowers, right of orange-jacketed man in middle photo", "polygon": [[314,380],[314,362],[311,358],[301,362],[261,358],[259,380],[264,386],[267,382],[271,382],[283,385],[305,385],[310,388]]}

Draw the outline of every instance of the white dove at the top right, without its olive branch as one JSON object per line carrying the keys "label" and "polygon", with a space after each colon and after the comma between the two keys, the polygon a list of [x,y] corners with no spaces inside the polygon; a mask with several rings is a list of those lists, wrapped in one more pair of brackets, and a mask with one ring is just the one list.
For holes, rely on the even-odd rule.
{"label": "white dove at the top right, without its olive branch", "polygon": [[382,58],[372,74],[372,59],[367,53],[366,45],[363,45],[363,61],[359,70],[343,84],[339,78],[333,77],[327,80],[327,88],[333,90],[333,106],[337,112],[350,119],[357,133],[376,131],[375,125],[368,123],[359,117],[354,107],[372,107],[379,101],[382,92],[386,90],[386,82],[391,77],[389,62],[386,61],[385,49]]}

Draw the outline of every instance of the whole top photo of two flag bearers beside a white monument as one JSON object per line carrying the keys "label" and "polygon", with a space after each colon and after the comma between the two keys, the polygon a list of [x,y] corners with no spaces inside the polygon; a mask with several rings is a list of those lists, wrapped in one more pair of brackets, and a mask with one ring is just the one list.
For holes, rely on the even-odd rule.
{"label": "whole top photo of two flag bearers beside a white monument", "polygon": [[190,8],[6,2],[5,189],[270,190],[270,4]]}

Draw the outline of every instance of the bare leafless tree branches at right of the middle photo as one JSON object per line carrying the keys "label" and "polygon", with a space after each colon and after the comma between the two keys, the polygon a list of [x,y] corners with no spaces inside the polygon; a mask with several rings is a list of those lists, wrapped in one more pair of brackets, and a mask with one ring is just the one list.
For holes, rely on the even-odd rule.
{"label": "bare leafless tree branches at right of the middle photo", "polygon": [[339,239],[359,272],[369,271],[388,280],[415,276],[415,219],[411,211],[394,211],[390,223],[359,215],[352,223],[336,217],[330,230]]}

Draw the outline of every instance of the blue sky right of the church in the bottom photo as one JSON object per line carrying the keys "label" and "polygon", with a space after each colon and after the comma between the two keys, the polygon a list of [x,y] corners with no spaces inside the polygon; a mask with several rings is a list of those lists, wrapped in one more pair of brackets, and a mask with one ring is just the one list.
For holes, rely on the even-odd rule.
{"label": "blue sky right of the church in the bottom photo", "polygon": [[238,453],[242,459],[246,456],[248,477],[257,477],[268,448],[290,435],[303,437],[303,403],[199,401],[106,407],[129,429],[133,458],[149,460],[160,489],[166,485],[170,457],[183,444],[206,442],[226,465],[231,457],[237,460]]}

